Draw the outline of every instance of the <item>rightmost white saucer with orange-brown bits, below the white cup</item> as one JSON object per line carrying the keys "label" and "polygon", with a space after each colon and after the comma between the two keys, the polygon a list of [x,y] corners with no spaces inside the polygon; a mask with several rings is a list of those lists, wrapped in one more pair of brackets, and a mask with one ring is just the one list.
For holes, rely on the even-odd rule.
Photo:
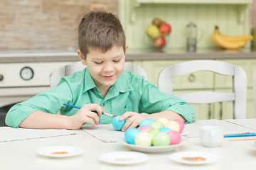
{"label": "rightmost white saucer with orange-brown bits, below the white cup", "polygon": [[211,164],[218,162],[219,157],[209,152],[176,152],[170,154],[170,159],[181,164]]}

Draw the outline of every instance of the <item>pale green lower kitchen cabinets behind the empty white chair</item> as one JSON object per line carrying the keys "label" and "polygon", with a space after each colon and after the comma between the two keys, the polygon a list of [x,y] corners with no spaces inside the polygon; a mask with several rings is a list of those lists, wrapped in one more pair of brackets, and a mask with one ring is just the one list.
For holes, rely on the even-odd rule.
{"label": "pale green lower kitchen cabinets behind the empty white chair", "polygon": [[[130,61],[146,70],[148,81],[157,86],[159,73],[165,67],[187,60],[134,60]],[[252,93],[252,74],[256,69],[256,60],[237,59],[237,60],[218,60],[236,64],[245,70],[247,74],[247,118],[254,117],[254,103]],[[232,91],[232,78],[213,74],[212,72],[195,72],[183,77],[174,77],[174,94],[193,91]],[[194,104],[197,119],[230,119],[233,118],[233,102],[225,101],[211,104]]]}

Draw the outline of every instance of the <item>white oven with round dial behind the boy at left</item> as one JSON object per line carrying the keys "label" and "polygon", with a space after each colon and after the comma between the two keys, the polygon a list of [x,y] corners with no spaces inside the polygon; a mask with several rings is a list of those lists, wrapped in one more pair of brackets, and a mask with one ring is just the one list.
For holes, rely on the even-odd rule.
{"label": "white oven with round dial behind the boy at left", "polygon": [[0,62],[0,126],[16,103],[50,89],[50,74],[71,62]]}

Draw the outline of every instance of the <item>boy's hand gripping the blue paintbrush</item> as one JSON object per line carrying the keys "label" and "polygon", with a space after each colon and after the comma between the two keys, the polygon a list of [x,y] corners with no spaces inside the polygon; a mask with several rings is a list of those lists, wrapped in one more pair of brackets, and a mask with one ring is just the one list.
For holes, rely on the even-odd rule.
{"label": "boy's hand gripping the blue paintbrush", "polygon": [[[97,113],[92,111],[97,111]],[[102,112],[105,112],[104,108],[96,103],[82,106],[78,113],[70,116],[70,129],[78,130],[85,123],[90,123],[92,126],[99,125],[99,116]]]}

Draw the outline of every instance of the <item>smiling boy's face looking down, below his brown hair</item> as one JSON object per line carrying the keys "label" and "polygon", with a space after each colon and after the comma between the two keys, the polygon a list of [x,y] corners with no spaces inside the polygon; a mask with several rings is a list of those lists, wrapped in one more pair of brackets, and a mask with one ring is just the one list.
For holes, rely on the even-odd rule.
{"label": "smiling boy's face looking down, below his brown hair", "polygon": [[105,53],[100,50],[89,50],[86,59],[81,59],[82,63],[87,65],[98,89],[110,89],[124,70],[125,54],[122,47],[114,46]]}

